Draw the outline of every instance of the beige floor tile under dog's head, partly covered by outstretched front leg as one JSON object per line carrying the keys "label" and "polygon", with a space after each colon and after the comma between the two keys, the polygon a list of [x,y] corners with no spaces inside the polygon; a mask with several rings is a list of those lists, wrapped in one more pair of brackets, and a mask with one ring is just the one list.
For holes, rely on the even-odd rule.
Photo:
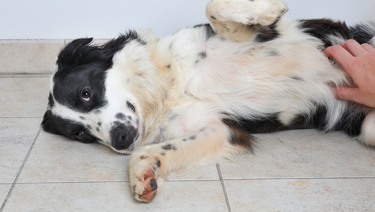
{"label": "beige floor tile under dog's head, partly covered by outstretched front leg", "polygon": [[[129,180],[129,156],[99,143],[85,144],[41,132],[18,182]],[[189,168],[169,180],[218,179],[216,167]]]}

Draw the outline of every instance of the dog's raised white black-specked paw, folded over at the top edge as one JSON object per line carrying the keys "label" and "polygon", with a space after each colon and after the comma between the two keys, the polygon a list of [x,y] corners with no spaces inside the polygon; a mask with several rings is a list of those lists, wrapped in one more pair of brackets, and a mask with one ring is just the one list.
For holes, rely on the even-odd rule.
{"label": "dog's raised white black-specked paw, folded over at the top edge", "polygon": [[213,0],[207,4],[206,15],[215,22],[269,26],[288,10],[280,0]]}

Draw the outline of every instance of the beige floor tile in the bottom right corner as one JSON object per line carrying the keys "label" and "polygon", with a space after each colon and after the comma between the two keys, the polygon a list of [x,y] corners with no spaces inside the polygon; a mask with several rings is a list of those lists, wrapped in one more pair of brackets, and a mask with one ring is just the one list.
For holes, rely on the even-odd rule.
{"label": "beige floor tile in the bottom right corner", "polygon": [[375,211],[375,178],[228,180],[232,212]]}

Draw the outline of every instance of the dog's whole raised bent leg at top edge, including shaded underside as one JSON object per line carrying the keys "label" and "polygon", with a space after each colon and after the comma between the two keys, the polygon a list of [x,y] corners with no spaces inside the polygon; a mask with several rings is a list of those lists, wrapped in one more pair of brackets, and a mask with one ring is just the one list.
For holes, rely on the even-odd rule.
{"label": "dog's whole raised bent leg at top edge, including shaded underside", "polygon": [[281,0],[209,0],[206,17],[219,35],[246,41],[249,33],[268,29],[264,26],[272,28],[287,11]]}

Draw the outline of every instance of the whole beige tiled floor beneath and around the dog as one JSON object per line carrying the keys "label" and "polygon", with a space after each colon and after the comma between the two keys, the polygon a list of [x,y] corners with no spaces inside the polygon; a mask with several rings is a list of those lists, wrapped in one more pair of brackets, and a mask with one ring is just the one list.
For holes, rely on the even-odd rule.
{"label": "whole beige tiled floor beneath and around the dog", "polygon": [[48,90],[48,75],[0,75],[0,211],[375,211],[375,148],[316,130],[259,135],[254,155],[173,174],[135,202],[128,156],[40,130]]}

